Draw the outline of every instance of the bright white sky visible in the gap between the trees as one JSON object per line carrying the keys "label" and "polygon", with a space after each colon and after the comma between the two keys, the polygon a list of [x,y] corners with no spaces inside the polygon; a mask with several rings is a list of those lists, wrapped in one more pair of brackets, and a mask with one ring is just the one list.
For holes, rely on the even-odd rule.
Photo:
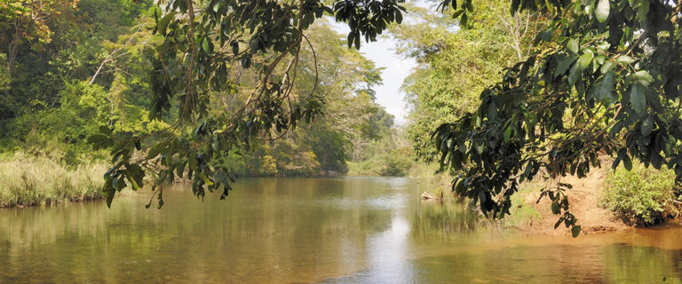
{"label": "bright white sky visible in the gap between the trees", "polygon": [[[331,22],[339,33],[348,35],[349,28],[345,23],[335,23],[334,20]],[[392,37],[379,36],[374,43],[362,41],[360,51],[366,58],[374,61],[377,67],[385,67],[381,75],[384,84],[374,87],[377,91],[377,103],[384,106],[389,114],[393,114],[396,125],[405,125],[408,109],[405,93],[400,91],[400,86],[416,67],[416,61],[396,54],[394,48],[396,45]]]}

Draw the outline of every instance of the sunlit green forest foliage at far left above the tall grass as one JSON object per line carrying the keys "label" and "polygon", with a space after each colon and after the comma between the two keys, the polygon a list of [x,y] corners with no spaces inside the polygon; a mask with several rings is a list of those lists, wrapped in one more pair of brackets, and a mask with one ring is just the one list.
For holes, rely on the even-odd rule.
{"label": "sunlit green forest foliage at far left above the tall grass", "polygon": [[[0,96],[0,146],[5,151],[22,146],[73,164],[91,152],[85,140],[101,125],[137,132],[163,128],[164,122],[147,118],[146,72],[139,56],[149,38],[140,33],[146,23],[137,19],[150,3],[40,3],[4,3],[4,9],[9,5],[27,15],[42,9],[42,18],[30,25],[12,19],[23,13],[0,9],[0,32],[9,41],[4,44],[15,52],[0,53],[12,58],[3,67],[11,72],[5,73]],[[44,25],[49,39],[30,36],[37,24]]]}

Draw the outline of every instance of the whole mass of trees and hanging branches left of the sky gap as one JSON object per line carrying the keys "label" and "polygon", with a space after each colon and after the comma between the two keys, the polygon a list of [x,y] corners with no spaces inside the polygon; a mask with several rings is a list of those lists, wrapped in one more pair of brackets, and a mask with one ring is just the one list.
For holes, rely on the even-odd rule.
{"label": "whole mass of trees and hanging branches left of the sky gap", "polygon": [[[295,5],[277,10],[243,2],[244,11],[263,12],[258,5],[266,4],[305,23],[287,26],[259,14],[233,23],[234,30],[222,26],[234,32],[227,39],[212,29],[227,23],[210,21],[232,9],[218,9],[221,3],[162,2],[163,9],[132,0],[0,3],[0,152],[26,151],[75,169],[109,160],[106,152],[113,151],[110,202],[126,184],[142,186],[145,176],[156,184],[195,177],[202,196],[201,188],[227,174],[344,173],[353,155],[363,155],[362,145],[390,132],[393,116],[374,102],[372,90],[381,69],[348,49],[325,20],[313,24],[309,12],[316,16],[321,7],[306,2],[301,13]],[[188,19],[194,12],[202,16]],[[190,38],[189,26],[197,41],[178,42]],[[377,31],[366,26],[356,30]],[[274,43],[277,35],[297,36]],[[279,43],[289,44],[288,51]],[[183,49],[185,57],[175,53]],[[178,76],[186,74],[180,86]],[[325,119],[313,121],[316,115]],[[220,123],[225,128],[209,131]],[[170,154],[170,147],[181,153]],[[219,162],[207,164],[214,156]],[[217,176],[203,170],[218,170]],[[21,181],[14,179],[8,182]]]}

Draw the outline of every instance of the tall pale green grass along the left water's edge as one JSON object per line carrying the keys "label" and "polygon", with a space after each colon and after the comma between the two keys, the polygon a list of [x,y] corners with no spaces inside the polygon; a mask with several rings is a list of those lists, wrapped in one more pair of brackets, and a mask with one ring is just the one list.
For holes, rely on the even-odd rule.
{"label": "tall pale green grass along the left water's edge", "polygon": [[67,167],[43,156],[0,157],[0,207],[102,198],[103,163]]}

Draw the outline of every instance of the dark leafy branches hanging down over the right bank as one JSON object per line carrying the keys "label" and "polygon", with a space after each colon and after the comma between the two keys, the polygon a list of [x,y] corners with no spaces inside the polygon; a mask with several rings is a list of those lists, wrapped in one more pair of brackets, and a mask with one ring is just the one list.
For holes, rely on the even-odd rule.
{"label": "dark leafy branches hanging down over the right bank", "polygon": [[[459,4],[459,5],[457,5]],[[472,1],[446,1],[466,22]],[[475,112],[440,125],[434,138],[441,164],[461,174],[453,189],[491,217],[509,214],[510,197],[541,172],[556,226],[580,233],[560,177],[584,177],[599,155],[632,158],[675,170],[682,181],[679,12],[682,2],[658,0],[512,1],[512,12],[538,11],[551,25],[546,47],[509,68],[480,94]]]}

